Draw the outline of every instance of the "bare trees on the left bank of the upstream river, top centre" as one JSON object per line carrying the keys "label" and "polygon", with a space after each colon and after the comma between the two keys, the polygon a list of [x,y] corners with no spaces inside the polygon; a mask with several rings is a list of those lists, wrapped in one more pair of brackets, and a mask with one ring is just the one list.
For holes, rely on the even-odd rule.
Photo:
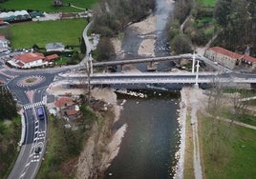
{"label": "bare trees on the left bank of the upstream river, top centre", "polygon": [[111,37],[130,22],[137,22],[155,9],[155,0],[100,0],[96,7],[94,31]]}

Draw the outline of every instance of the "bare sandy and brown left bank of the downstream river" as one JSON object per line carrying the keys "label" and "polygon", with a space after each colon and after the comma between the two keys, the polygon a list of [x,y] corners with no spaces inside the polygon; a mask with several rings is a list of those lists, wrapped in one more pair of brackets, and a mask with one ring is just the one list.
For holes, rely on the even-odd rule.
{"label": "bare sandy and brown left bank of the downstream river", "polygon": [[[67,89],[62,84],[55,83],[48,89],[48,92],[54,96],[64,96],[66,93],[80,95],[85,91],[84,89]],[[93,124],[90,137],[83,145],[77,162],[73,166],[76,169],[76,178],[100,177],[117,156],[121,138],[127,128],[127,125],[123,124],[119,129],[112,130],[113,125],[119,119],[121,110],[113,89],[94,88],[91,90],[91,94],[95,100],[104,101],[107,104],[107,111],[97,114],[103,120],[102,123],[95,122]],[[52,104],[48,104],[48,106],[53,108]]]}

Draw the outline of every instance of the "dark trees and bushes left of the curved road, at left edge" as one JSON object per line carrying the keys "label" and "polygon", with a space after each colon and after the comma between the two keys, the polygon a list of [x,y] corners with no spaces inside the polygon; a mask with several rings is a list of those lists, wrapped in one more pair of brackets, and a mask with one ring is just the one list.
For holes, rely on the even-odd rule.
{"label": "dark trees and bushes left of the curved road, at left edge", "polygon": [[0,178],[7,178],[18,154],[21,119],[11,92],[0,86]]}

